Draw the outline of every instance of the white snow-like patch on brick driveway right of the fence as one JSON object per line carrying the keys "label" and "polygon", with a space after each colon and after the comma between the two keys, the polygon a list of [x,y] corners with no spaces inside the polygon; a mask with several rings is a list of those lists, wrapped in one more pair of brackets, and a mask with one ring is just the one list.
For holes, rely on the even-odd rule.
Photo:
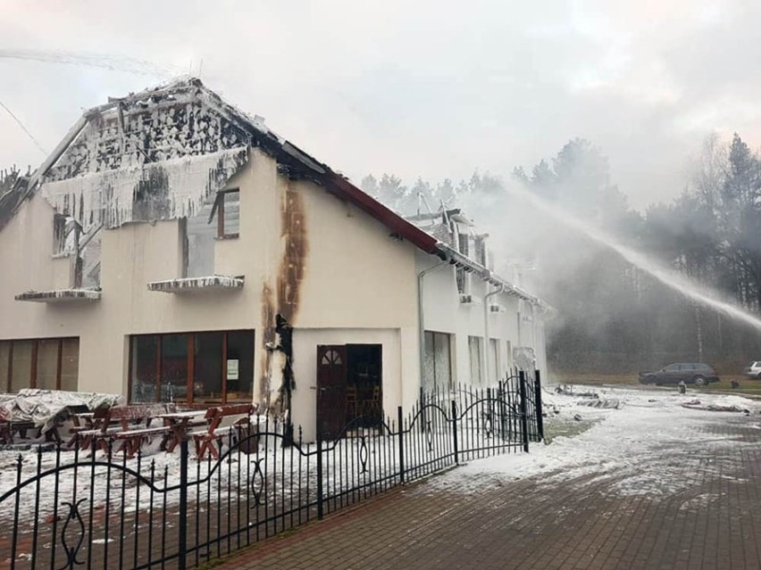
{"label": "white snow-like patch on brick driveway right of the fence", "polygon": [[[590,408],[584,405],[588,398],[545,391],[545,433],[550,438],[554,432],[575,434],[533,445],[530,453],[472,461],[434,479],[421,492],[485,492],[533,477],[537,484],[583,488],[603,483],[606,492],[664,496],[688,488],[708,471],[733,476],[732,459],[717,462],[707,448],[757,442],[732,439],[728,423],[742,421],[761,429],[761,401],[740,396],[623,387],[576,386],[574,392],[598,392],[601,400],[618,401],[618,409]],[[682,406],[696,400],[699,408]],[[734,407],[748,414],[709,407]]]}

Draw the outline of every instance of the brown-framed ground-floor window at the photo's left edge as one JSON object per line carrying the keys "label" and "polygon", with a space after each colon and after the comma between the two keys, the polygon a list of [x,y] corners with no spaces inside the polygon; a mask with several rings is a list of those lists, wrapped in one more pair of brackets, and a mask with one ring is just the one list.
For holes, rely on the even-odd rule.
{"label": "brown-framed ground-floor window at the photo's left edge", "polygon": [[0,341],[0,390],[77,390],[79,338]]}

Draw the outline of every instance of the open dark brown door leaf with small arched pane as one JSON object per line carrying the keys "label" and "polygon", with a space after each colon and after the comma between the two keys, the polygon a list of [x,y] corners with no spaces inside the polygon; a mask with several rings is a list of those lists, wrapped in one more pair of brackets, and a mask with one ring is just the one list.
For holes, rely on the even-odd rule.
{"label": "open dark brown door leaf with small arched pane", "polygon": [[336,439],[347,417],[347,347],[317,347],[317,436]]}

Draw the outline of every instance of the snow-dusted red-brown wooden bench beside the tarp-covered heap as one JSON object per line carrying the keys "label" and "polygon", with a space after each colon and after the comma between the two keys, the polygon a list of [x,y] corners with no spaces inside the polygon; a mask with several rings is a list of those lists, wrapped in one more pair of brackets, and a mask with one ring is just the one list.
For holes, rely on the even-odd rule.
{"label": "snow-dusted red-brown wooden bench beside the tarp-covered heap", "polygon": [[[102,416],[97,427],[79,432],[79,438],[91,442],[93,453],[100,446],[108,452],[109,444],[120,442],[117,453],[126,452],[127,458],[133,458],[140,449],[143,441],[153,435],[168,435],[171,427],[167,425],[151,425],[154,419],[167,412],[176,411],[173,403],[168,404],[135,404],[132,406],[115,406],[94,416]],[[96,413],[98,410],[96,410]],[[156,420],[160,422],[161,420]]]}

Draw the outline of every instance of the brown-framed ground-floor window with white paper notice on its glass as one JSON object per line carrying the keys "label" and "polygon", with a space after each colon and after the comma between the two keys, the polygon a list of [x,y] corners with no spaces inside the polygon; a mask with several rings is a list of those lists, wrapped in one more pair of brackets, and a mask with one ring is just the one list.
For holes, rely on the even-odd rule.
{"label": "brown-framed ground-floor window with white paper notice on its glass", "polygon": [[130,337],[130,401],[252,401],[254,331]]}

